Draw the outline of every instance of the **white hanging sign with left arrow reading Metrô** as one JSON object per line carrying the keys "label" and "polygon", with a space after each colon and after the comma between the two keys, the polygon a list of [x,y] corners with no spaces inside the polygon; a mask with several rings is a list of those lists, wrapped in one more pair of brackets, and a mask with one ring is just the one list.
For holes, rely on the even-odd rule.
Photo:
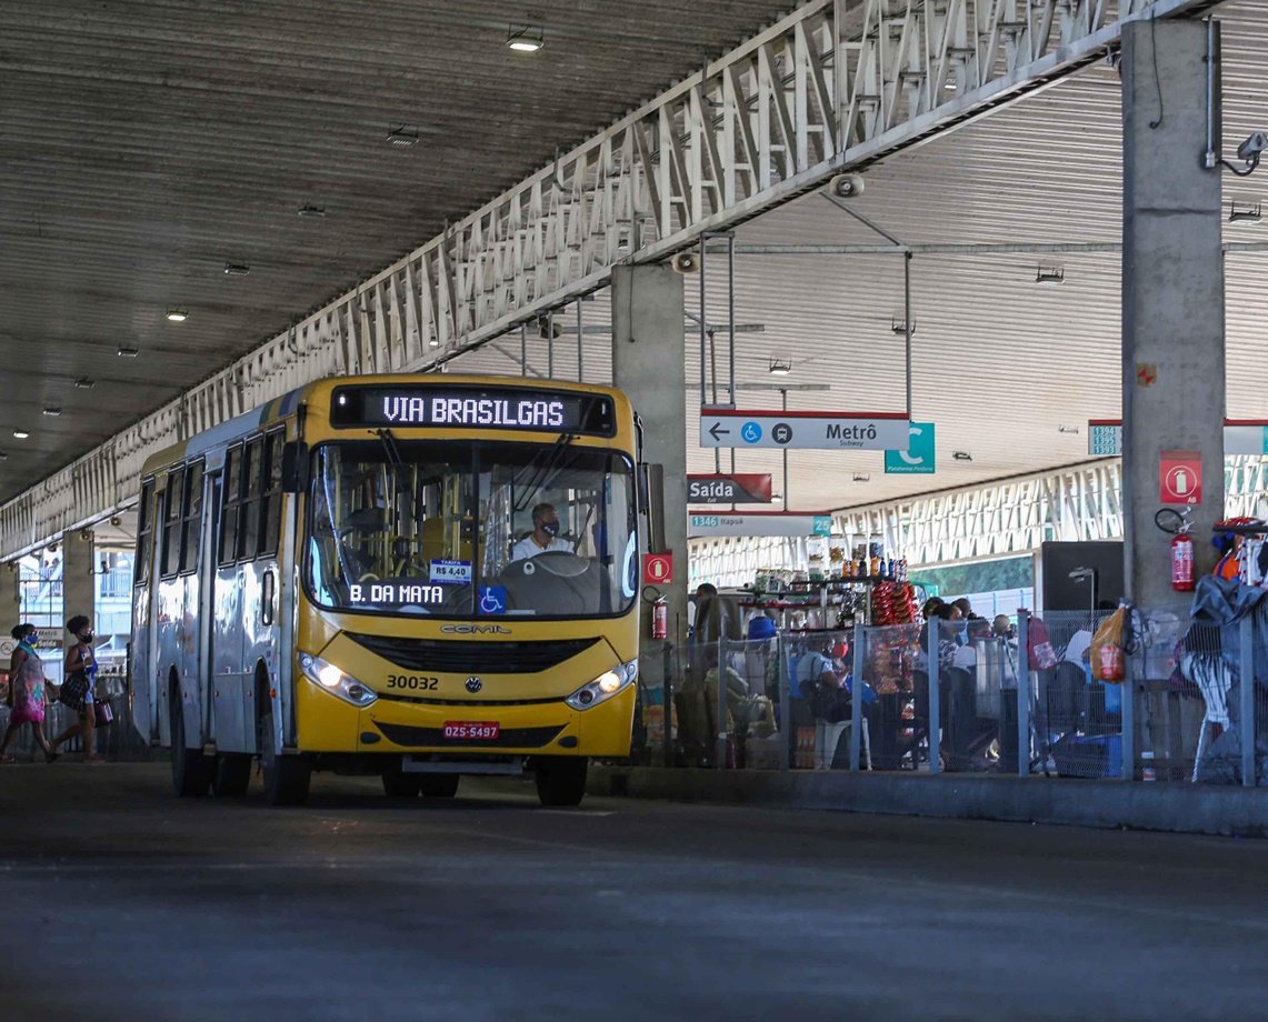
{"label": "white hanging sign with left arrow reading Metr\u00f4", "polygon": [[700,411],[702,448],[907,450],[909,429],[902,412]]}

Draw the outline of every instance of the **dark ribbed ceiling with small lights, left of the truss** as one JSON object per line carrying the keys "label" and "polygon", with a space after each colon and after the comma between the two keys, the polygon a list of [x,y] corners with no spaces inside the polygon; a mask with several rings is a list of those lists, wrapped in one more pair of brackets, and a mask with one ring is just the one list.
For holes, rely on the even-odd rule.
{"label": "dark ribbed ceiling with small lights, left of the truss", "polygon": [[0,0],[0,500],[790,6]]}

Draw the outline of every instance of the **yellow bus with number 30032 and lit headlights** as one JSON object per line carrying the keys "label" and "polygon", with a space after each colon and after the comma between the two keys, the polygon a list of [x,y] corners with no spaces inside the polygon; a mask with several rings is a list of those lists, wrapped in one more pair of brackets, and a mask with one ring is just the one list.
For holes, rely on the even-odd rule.
{"label": "yellow bus with number 30032 and lit headlights", "polygon": [[330,378],[142,470],[133,718],[180,795],[273,804],[314,770],[576,805],[629,754],[638,426],[563,382]]}

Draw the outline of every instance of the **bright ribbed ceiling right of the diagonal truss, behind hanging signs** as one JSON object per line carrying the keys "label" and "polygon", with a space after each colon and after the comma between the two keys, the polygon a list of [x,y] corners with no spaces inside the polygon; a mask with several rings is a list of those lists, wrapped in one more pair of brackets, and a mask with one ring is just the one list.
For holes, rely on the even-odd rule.
{"label": "bright ribbed ceiling right of the diagonal truss, behind hanging signs", "polygon": [[[1262,55],[1268,9],[1245,0],[1224,20],[1225,151],[1268,127]],[[1122,235],[1121,84],[1102,63],[957,132],[866,172],[851,205],[909,243],[1113,245]],[[1196,153],[1177,153],[1196,158]],[[1158,172],[1165,174],[1167,167]],[[1268,202],[1268,172],[1224,178],[1225,208]],[[1264,242],[1268,222],[1226,223],[1229,242]],[[746,245],[884,245],[819,194],[742,226]],[[710,256],[710,260],[714,257]],[[709,264],[720,283],[723,259]],[[1061,268],[1060,284],[1038,284],[1038,266]],[[1226,259],[1227,407],[1230,417],[1268,418],[1268,320],[1262,314],[1268,251]],[[687,278],[687,309],[699,308]],[[1117,251],[1011,255],[922,255],[913,260],[914,418],[937,424],[932,475],[885,475],[883,455],[791,451],[790,508],[836,510],[981,483],[1088,460],[1087,420],[1121,412],[1121,256]],[[792,392],[791,408],[902,411],[903,260],[884,255],[739,255],[737,322],[763,332],[737,336],[739,385],[828,385]],[[710,284],[710,322],[725,322],[724,290]],[[606,294],[583,306],[585,321],[607,322]],[[563,317],[572,323],[572,313]],[[555,372],[576,374],[574,333],[555,342]],[[588,336],[587,378],[605,379],[607,340]],[[510,353],[474,353],[455,369],[517,370]],[[544,341],[530,345],[535,370]],[[719,333],[719,385],[727,354]],[[772,377],[770,359],[792,363]],[[699,336],[687,339],[687,375],[699,380]],[[739,407],[777,408],[780,396],[742,389]],[[689,465],[714,470],[696,446],[699,392],[686,396]],[[1179,412],[1181,410],[1178,410]],[[1063,431],[1066,430],[1066,431]],[[1071,432],[1069,430],[1077,430]],[[954,451],[971,460],[954,460]],[[723,468],[730,455],[723,453]],[[741,451],[741,472],[771,472],[782,491],[779,451]],[[856,478],[857,477],[857,478]]]}

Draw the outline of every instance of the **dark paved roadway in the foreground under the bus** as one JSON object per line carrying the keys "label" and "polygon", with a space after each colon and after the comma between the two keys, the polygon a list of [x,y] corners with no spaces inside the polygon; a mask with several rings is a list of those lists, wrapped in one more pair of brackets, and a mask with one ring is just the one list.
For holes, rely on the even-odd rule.
{"label": "dark paved roadway in the foreground under the bus", "polygon": [[0,768],[0,1019],[1268,1018],[1268,842]]}

